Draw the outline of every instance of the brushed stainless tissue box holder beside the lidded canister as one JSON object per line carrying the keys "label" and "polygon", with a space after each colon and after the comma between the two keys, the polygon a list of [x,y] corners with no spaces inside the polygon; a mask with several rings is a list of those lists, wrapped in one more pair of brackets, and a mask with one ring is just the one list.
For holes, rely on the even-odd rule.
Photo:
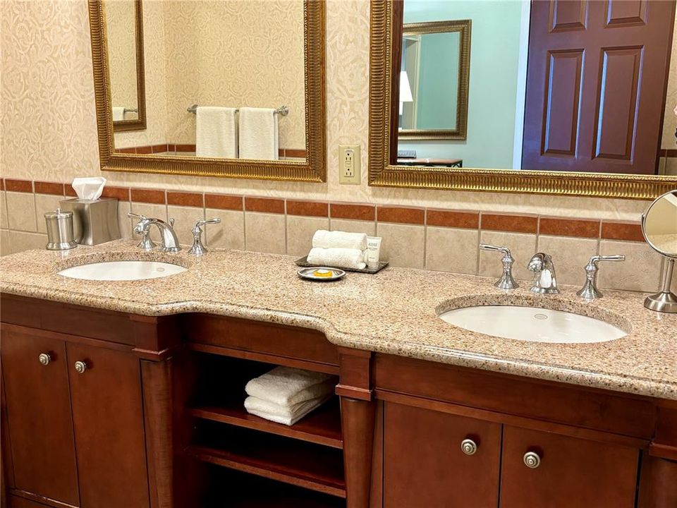
{"label": "brushed stainless tissue box holder beside the lidded canister", "polygon": [[99,245],[120,238],[118,200],[115,198],[63,200],[61,210],[73,212],[73,233],[80,245]]}

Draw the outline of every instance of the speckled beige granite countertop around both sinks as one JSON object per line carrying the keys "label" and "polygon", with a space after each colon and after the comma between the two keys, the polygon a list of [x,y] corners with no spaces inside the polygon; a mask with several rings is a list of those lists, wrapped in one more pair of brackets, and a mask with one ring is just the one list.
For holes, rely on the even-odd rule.
{"label": "speckled beige granite countertop around both sinks", "polygon": [[[56,274],[102,260],[150,259],[188,267],[163,279],[96,282]],[[0,291],[142,315],[202,312],[317,329],[339,346],[677,400],[677,315],[647,310],[644,295],[605,291],[586,302],[561,294],[510,293],[493,279],[389,267],[338,282],[308,282],[295,258],[212,250],[201,258],[145,253],[133,241],[0,259]],[[544,344],[489,337],[437,318],[448,308],[514,303],[597,316],[628,332],[595,344]]]}

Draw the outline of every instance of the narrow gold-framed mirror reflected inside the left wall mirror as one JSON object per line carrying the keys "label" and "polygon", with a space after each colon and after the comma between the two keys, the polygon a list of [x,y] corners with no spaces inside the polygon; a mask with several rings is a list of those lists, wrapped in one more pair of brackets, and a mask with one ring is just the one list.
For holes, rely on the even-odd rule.
{"label": "narrow gold-framed mirror reflected inside the left wall mirror", "polygon": [[[142,0],[106,4],[114,132],[146,128]],[[133,30],[130,30],[133,27]]]}

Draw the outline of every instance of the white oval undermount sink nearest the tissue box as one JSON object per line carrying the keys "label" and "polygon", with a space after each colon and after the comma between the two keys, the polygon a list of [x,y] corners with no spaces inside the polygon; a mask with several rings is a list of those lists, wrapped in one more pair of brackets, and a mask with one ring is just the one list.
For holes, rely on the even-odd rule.
{"label": "white oval undermount sink nearest the tissue box", "polygon": [[185,270],[182,266],[161,261],[104,261],[66,268],[59,275],[71,279],[125,281],[169,277]]}

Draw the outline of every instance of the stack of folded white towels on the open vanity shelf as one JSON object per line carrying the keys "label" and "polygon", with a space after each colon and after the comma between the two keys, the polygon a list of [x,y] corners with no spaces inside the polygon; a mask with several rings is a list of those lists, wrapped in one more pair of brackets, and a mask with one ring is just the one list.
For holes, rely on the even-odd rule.
{"label": "stack of folded white towels on the open vanity shelf", "polygon": [[245,409],[266,420],[293,425],[327,401],[336,377],[290,367],[276,367],[250,380]]}

